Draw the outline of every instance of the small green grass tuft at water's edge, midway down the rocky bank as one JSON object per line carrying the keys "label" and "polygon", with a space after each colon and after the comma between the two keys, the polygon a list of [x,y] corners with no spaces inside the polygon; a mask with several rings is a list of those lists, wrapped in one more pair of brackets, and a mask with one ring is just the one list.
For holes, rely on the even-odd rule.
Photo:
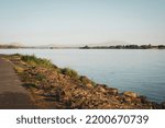
{"label": "small green grass tuft at water's edge, midway down the rocky bank", "polygon": [[69,69],[69,68],[64,68],[64,69],[61,69],[61,72],[63,74],[66,74],[66,75],[69,75],[72,78],[79,78],[77,71],[73,70],[73,69]]}

